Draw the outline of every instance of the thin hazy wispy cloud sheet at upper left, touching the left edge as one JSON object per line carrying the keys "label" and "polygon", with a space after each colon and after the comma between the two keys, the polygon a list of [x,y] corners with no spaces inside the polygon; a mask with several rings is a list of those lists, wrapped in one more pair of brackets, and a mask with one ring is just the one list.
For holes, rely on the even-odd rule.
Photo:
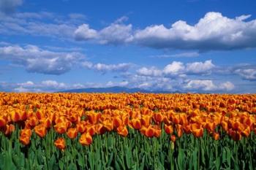
{"label": "thin hazy wispy cloud sheet at upper left, touching the left edge", "polygon": [[17,12],[7,15],[0,12],[0,34],[48,36],[57,39],[74,39],[74,32],[83,23],[83,15],[56,15],[50,12]]}

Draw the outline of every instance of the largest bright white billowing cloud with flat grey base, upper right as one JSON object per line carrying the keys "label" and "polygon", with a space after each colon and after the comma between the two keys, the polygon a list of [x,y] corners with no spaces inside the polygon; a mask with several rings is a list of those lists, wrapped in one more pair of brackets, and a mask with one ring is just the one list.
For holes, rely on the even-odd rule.
{"label": "largest bright white billowing cloud with flat grey base, upper right", "polygon": [[256,47],[256,20],[248,16],[227,18],[219,12],[208,12],[194,26],[178,20],[170,28],[148,26],[136,31],[134,41],[154,48],[181,50],[233,50]]}

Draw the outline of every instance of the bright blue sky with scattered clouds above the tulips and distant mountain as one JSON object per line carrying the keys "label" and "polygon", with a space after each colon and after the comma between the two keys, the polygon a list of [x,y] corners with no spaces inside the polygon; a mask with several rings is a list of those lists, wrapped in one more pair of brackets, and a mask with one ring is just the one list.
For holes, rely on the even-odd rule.
{"label": "bright blue sky with scattered clouds above the tulips and distant mountain", "polygon": [[0,90],[256,92],[256,2],[0,0]]}

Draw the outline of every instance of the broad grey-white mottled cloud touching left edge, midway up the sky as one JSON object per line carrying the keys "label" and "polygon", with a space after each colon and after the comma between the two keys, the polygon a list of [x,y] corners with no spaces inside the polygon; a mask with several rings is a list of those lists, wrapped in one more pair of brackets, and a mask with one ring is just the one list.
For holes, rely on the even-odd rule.
{"label": "broad grey-white mottled cloud touching left edge, midway up the sky", "polygon": [[0,47],[0,58],[24,66],[28,72],[64,74],[83,60],[81,53],[43,50],[34,45]]}

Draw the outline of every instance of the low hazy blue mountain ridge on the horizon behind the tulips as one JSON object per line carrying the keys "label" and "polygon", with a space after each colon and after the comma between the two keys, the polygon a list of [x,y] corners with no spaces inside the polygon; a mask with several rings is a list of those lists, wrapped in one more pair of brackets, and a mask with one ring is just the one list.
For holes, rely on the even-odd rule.
{"label": "low hazy blue mountain ridge on the horizon behind the tulips", "polygon": [[113,86],[110,88],[80,88],[59,91],[59,93],[181,93],[180,91],[167,91],[167,90],[144,90],[140,88],[124,88]]}

